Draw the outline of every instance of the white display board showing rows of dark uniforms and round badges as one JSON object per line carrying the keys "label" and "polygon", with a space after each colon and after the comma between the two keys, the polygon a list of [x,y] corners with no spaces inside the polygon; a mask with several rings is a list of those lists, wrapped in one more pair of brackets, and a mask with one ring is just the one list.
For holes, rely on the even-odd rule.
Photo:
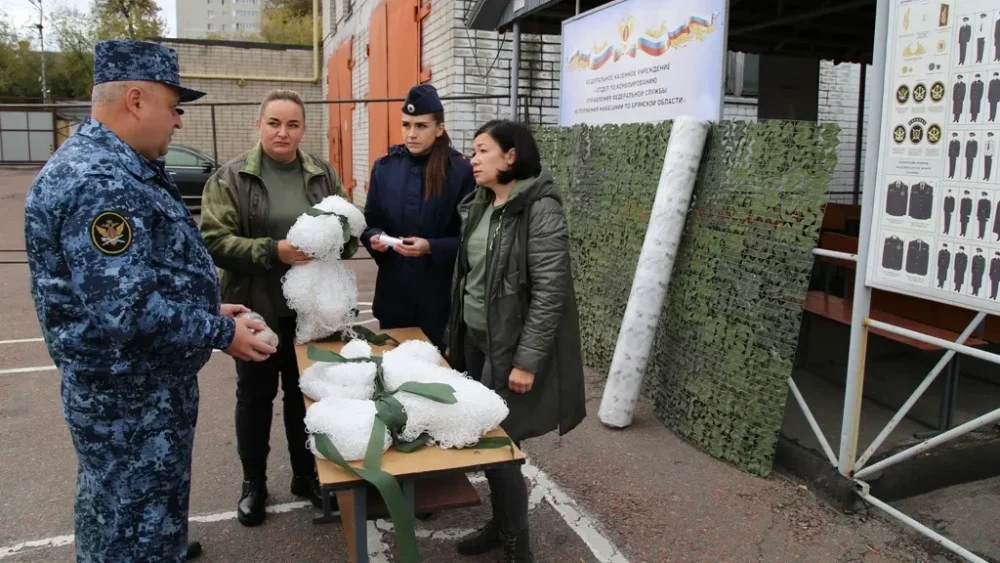
{"label": "white display board showing rows of dark uniforms and round badges", "polygon": [[886,48],[866,283],[1000,313],[1000,1],[897,0]]}

